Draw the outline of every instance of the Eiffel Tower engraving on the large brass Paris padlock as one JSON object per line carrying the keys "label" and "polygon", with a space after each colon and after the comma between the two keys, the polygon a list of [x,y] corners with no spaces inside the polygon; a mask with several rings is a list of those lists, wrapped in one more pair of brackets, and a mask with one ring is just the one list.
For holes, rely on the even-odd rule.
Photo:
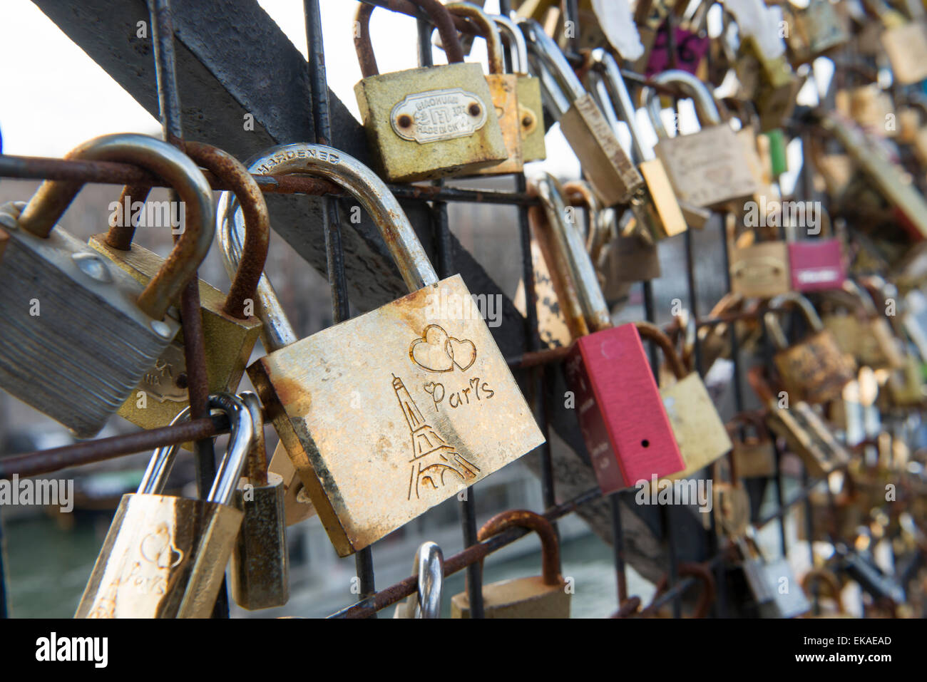
{"label": "Eiffel Tower engraving on the large brass Paris padlock", "polygon": [[434,428],[425,423],[425,417],[409,395],[402,380],[393,374],[393,389],[396,399],[400,401],[402,414],[412,432],[413,457],[412,473],[409,477],[409,496],[415,499],[427,490],[437,490],[445,485],[445,475],[452,474],[461,481],[476,478],[479,467],[468,461],[464,455],[457,452],[453,446],[441,437]]}

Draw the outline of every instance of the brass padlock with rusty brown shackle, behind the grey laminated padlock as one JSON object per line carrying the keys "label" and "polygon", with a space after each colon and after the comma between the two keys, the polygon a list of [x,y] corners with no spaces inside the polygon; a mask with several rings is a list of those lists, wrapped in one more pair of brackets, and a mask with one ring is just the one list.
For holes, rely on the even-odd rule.
{"label": "brass padlock with rusty brown shackle, behind the grey laminated padlock", "polygon": [[[249,308],[248,301],[253,302],[255,287],[267,259],[270,219],[258,183],[237,159],[217,147],[198,142],[188,142],[186,153],[197,164],[235,187],[235,194],[244,203],[248,216],[246,256],[231,276],[228,296],[199,281],[200,318],[206,344],[210,393],[234,392],[260,334],[260,320],[246,314],[246,310]],[[132,186],[122,190],[120,207],[135,201],[144,202],[146,197],[133,197],[133,191]],[[96,234],[90,238],[89,244],[135,280],[146,284],[164,261],[144,246],[133,244],[135,226],[125,210],[121,214],[122,220],[113,225],[108,234]],[[179,301],[176,303],[179,306]],[[188,401],[182,328],[171,345],[152,363],[133,395],[122,403],[119,414],[146,429],[159,428],[171,423]],[[184,448],[192,449],[192,444],[186,443]]]}

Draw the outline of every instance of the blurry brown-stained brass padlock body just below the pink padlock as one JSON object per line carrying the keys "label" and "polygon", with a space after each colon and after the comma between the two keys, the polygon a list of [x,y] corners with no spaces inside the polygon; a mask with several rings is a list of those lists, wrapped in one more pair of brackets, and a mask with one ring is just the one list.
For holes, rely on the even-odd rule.
{"label": "blurry brown-stained brass padlock body just below the pink padlock", "polygon": [[818,403],[840,398],[856,378],[856,363],[827,329],[777,351],[773,361],[792,399]]}

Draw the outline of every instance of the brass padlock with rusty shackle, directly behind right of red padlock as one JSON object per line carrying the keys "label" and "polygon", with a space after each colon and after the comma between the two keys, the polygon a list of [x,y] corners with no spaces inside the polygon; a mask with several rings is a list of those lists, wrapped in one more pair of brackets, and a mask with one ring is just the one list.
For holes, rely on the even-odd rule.
{"label": "brass padlock with rusty shackle, directly behind right of red padlock", "polygon": [[660,388],[673,436],[685,469],[665,476],[669,480],[688,478],[728,452],[730,437],[698,373],[687,373],[669,337],[651,322],[635,322],[641,339],[653,341],[663,350],[676,383]]}

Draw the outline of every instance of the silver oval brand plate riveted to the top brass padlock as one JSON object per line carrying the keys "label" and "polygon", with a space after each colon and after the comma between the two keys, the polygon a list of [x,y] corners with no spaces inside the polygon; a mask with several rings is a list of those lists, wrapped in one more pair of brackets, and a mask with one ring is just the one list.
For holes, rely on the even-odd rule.
{"label": "silver oval brand plate riveted to the top brass padlock", "polygon": [[420,145],[453,140],[486,125],[486,102],[460,88],[406,95],[389,114],[389,123],[403,140]]}

